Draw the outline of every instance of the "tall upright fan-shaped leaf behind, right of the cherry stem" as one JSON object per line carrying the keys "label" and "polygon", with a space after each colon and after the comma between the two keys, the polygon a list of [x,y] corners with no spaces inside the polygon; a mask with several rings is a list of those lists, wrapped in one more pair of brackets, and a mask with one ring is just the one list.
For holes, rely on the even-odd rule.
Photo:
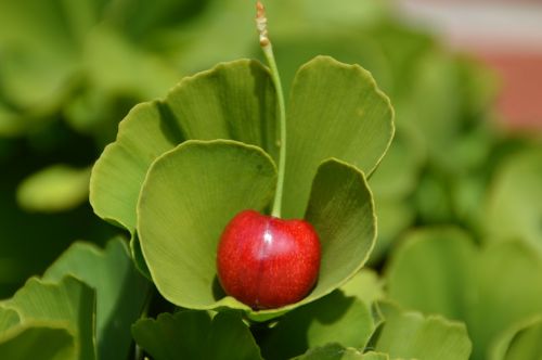
{"label": "tall upright fan-shaped leaf behind, right of the cherry stem", "polygon": [[300,217],[320,163],[336,157],[371,173],[393,134],[389,100],[358,65],[318,56],[294,80],[286,125],[283,214]]}

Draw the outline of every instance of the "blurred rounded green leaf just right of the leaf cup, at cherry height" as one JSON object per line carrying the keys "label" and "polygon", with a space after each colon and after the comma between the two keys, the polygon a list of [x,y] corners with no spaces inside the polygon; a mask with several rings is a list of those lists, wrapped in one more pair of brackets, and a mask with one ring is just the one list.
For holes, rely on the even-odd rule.
{"label": "blurred rounded green leaf just right of the leaf cup, at cherry height", "polygon": [[461,319],[474,296],[465,290],[472,287],[475,253],[469,236],[456,229],[411,233],[388,266],[388,294],[406,308]]}

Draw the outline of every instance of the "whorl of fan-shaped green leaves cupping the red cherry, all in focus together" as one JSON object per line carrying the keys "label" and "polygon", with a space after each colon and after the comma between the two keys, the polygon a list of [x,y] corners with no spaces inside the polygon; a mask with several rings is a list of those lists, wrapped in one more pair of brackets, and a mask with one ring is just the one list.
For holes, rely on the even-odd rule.
{"label": "whorl of fan-shaped green leaves cupping the red cherry, all in focus together", "polygon": [[[301,179],[307,173],[311,179],[315,175],[312,191],[309,184],[297,185],[307,193],[302,198],[296,198],[294,192],[283,194],[286,201],[293,198],[289,204],[299,204],[301,208],[307,206],[305,197],[310,194],[306,218],[322,239],[320,280],[301,304],[320,298],[347,281],[366,261],[374,244],[374,210],[363,173],[338,160],[318,165],[336,155],[359,159],[359,165],[372,170],[392,136],[389,102],[370,75],[328,57],[319,57],[299,72],[298,88],[292,95],[292,121],[313,117],[314,108],[301,99],[323,97],[335,76],[347,81],[350,89],[359,87],[328,102],[343,104],[344,114],[335,118],[334,126],[340,133],[319,147],[325,152],[311,160],[307,158],[306,167],[289,175],[286,171],[286,183],[288,179]],[[323,79],[321,85],[319,78]],[[96,214],[131,233],[137,228],[153,280],[176,305],[195,309],[228,306],[250,311],[221,293],[216,280],[215,252],[223,227],[236,213],[245,208],[264,210],[273,194],[273,94],[267,69],[249,61],[222,64],[188,78],[165,101],[136,107],[121,123],[117,141],[105,150],[92,171],[90,196]],[[367,102],[358,104],[358,98],[366,98]],[[350,99],[349,104],[344,103],[346,99]],[[371,115],[373,108],[377,116]],[[351,116],[359,116],[359,120],[351,121]],[[311,137],[319,141],[320,136],[292,131],[288,143],[294,143],[294,150],[306,157],[309,152],[302,151],[300,144]],[[358,146],[344,147],[341,136],[353,133],[360,136],[351,138],[349,146]],[[217,138],[243,143],[186,140]],[[296,146],[296,141],[301,142]],[[181,145],[159,156],[176,143]],[[287,154],[286,164],[297,157],[296,151],[288,150]],[[136,252],[137,246],[132,242]],[[286,307],[289,308],[293,306]],[[266,320],[284,310],[259,311],[250,317]]]}

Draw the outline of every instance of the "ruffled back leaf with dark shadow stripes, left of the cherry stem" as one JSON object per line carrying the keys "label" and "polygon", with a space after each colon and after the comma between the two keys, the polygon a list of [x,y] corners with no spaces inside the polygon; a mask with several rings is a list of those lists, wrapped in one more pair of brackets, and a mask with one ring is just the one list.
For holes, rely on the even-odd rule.
{"label": "ruffled back leaf with dark shadow stripes, left of the cherry stem", "polygon": [[276,154],[275,92],[260,63],[241,60],[188,77],[163,101],[136,106],[92,170],[90,201],[133,233],[151,164],[188,139],[233,139]]}

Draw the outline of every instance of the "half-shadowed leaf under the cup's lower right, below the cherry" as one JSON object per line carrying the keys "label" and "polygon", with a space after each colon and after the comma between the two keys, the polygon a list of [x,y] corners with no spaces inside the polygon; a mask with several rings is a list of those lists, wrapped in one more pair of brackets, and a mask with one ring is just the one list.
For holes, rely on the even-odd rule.
{"label": "half-shadowed leaf under the cup's lower right, below the cherry", "polygon": [[336,291],[286,313],[260,346],[266,359],[286,359],[328,343],[364,348],[373,331],[370,306]]}

